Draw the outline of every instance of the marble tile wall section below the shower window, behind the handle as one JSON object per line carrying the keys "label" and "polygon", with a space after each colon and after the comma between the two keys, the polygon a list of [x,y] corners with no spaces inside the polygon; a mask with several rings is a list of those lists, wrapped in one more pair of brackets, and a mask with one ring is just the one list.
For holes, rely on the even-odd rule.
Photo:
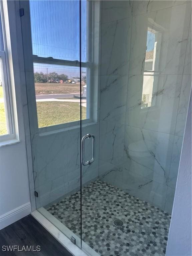
{"label": "marble tile wall section below the shower window, behind the handle", "polygon": [[[96,160],[91,169],[83,166],[83,184],[98,177],[99,123],[83,126],[82,136],[87,133],[95,135]],[[92,143],[88,139],[86,143],[85,159],[91,159]],[[80,146],[80,127],[42,135],[37,133],[32,137],[34,183],[39,194],[37,208],[80,188]]]}

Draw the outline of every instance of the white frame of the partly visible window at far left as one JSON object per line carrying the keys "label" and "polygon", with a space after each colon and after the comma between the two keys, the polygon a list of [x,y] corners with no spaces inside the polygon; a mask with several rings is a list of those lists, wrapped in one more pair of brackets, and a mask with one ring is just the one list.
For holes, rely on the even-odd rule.
{"label": "white frame of the partly visible window at far left", "polygon": [[13,107],[11,102],[11,90],[10,90],[10,81],[9,81],[9,70],[7,63],[7,45],[6,45],[6,35],[5,35],[5,23],[4,23],[4,15],[3,15],[3,7],[2,3],[0,4],[0,37],[2,38],[2,49],[0,49],[0,68],[2,72],[2,87],[3,87],[3,99],[4,99],[4,107],[5,107],[5,115],[6,115],[6,125],[7,125],[7,134],[0,135],[0,142],[8,141],[15,139],[15,129],[13,124]]}

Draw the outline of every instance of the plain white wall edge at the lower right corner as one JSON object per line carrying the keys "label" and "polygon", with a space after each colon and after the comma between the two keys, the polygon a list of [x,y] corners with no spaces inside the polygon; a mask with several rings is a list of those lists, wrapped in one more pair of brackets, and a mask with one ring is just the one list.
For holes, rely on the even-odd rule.
{"label": "plain white wall edge at the lower right corner", "polygon": [[166,256],[191,256],[191,98],[183,139]]}

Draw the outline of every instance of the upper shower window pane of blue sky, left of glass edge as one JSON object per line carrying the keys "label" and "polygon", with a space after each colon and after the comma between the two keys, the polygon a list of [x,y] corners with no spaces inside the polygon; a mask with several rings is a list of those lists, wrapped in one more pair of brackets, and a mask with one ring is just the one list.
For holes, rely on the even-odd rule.
{"label": "upper shower window pane of blue sky, left of glass edge", "polygon": [[30,1],[30,15],[34,55],[79,60],[79,1]]}

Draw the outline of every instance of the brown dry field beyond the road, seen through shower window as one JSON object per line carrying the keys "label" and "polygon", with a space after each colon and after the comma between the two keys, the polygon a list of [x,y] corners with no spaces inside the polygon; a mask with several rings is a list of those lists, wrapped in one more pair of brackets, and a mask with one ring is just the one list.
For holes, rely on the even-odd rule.
{"label": "brown dry field beyond the road, seen through shower window", "polygon": [[[82,87],[85,84],[82,83]],[[39,94],[61,94],[79,93],[80,83],[76,84],[57,84],[57,83],[35,83],[36,95]]]}

